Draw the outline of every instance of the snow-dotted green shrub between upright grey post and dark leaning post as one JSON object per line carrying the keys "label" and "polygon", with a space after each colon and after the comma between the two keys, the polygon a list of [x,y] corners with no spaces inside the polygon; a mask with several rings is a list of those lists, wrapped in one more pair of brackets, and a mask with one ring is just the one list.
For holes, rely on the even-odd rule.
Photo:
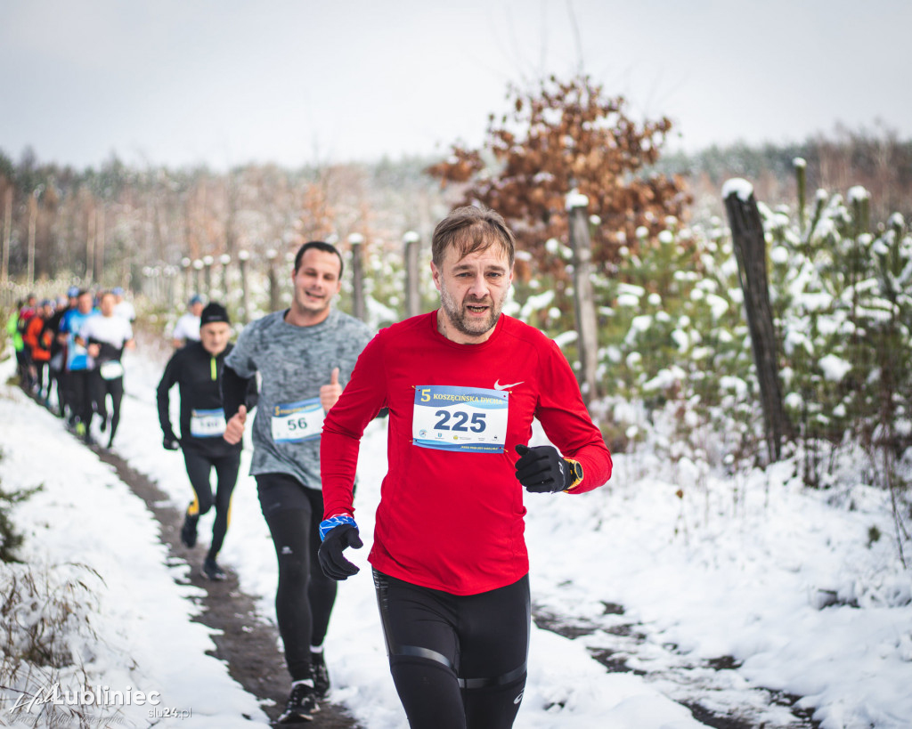
{"label": "snow-dotted green shrub between upright grey post and dark leaning post", "polygon": [[670,424],[672,437],[657,433],[653,445],[731,467],[761,437],[737,263],[715,222],[710,231],[666,222],[597,282],[603,383],[609,397],[644,403],[641,439]]}

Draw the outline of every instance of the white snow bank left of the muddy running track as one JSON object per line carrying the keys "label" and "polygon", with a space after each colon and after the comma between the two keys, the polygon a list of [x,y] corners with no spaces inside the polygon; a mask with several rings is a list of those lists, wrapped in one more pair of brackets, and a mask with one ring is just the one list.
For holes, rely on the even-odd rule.
{"label": "white snow bank left of the muddy running track", "polygon": [[78,725],[266,727],[255,697],[212,656],[214,632],[194,620],[201,592],[185,579],[186,564],[169,559],[157,522],[130,488],[55,416],[5,385],[0,385],[0,442],[3,488],[41,486],[15,510],[26,537],[19,550],[26,564],[0,569],[8,570],[5,576],[19,575],[20,584],[27,569],[47,584],[48,605],[67,600],[71,617],[58,635],[74,657],[58,668],[20,673],[12,690],[0,690],[0,724],[77,725],[59,712],[48,715],[50,708],[40,701],[15,707],[23,691],[40,699],[59,682],[74,692],[87,686],[145,694],[142,703],[138,698],[99,709],[74,693],[73,705],[61,711],[84,714],[88,724]]}

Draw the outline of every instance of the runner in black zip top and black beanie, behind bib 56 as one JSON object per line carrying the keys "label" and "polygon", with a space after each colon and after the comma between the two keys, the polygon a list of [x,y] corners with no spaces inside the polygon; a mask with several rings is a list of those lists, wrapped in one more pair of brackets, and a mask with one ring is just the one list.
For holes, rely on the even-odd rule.
{"label": "runner in black zip top and black beanie, behind bib 56", "polygon": [[[196,544],[196,525],[201,514],[214,505],[212,544],[202,563],[202,573],[210,580],[224,580],[224,571],[215,558],[222,549],[228,530],[229,508],[234,484],[241,465],[241,443],[230,444],[222,437],[225,417],[222,407],[222,373],[224,358],[232,351],[228,343],[231,326],[228,313],[218,303],[202,310],[201,341],[179,349],[165,367],[158,386],[159,423],[168,450],[183,451],[187,476],[196,494],[187,508],[181,541],[188,548]],[[177,384],[181,392],[181,437],[171,427],[169,392]],[[246,405],[256,405],[256,383],[250,382]],[[212,498],[210,473],[215,469],[218,486]]]}

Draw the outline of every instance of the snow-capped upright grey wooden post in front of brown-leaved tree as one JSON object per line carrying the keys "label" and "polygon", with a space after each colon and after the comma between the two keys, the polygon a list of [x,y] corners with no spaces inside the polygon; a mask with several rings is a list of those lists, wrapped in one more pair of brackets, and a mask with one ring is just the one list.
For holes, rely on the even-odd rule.
{"label": "snow-capped upright grey wooden post in front of brown-leaved tree", "polygon": [[566,198],[569,216],[570,246],[573,249],[574,307],[576,312],[577,349],[582,365],[583,401],[588,405],[598,396],[598,327],[596,302],[592,290],[592,241],[586,206],[589,200],[575,190]]}

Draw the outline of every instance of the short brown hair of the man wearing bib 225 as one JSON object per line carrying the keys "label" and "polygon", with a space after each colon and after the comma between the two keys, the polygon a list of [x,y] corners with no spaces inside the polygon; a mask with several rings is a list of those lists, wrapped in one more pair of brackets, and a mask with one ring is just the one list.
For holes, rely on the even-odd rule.
{"label": "short brown hair of the man wearing bib 225", "polygon": [[486,251],[495,244],[507,254],[510,265],[513,266],[516,239],[501,214],[490,208],[477,208],[473,205],[456,208],[434,228],[430,241],[430,260],[440,268],[443,256],[451,246],[462,259],[469,253]]}

